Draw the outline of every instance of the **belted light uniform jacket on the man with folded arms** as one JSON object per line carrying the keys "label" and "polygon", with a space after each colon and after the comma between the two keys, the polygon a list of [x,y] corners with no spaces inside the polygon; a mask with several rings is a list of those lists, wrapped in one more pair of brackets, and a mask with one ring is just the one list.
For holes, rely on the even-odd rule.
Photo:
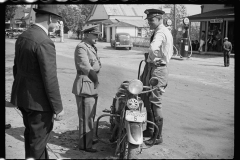
{"label": "belted light uniform jacket on the man with folded arms", "polygon": [[94,89],[94,83],[88,78],[90,70],[100,71],[101,63],[97,51],[83,40],[75,49],[74,60],[78,72],[73,83],[72,93],[78,96],[97,96],[98,88]]}

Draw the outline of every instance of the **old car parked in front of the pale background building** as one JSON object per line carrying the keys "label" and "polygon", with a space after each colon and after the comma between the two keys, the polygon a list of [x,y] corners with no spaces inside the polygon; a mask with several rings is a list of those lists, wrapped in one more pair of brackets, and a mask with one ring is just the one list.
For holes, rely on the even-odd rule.
{"label": "old car parked in front of the pale background building", "polygon": [[129,50],[132,49],[133,43],[131,41],[131,37],[129,33],[116,33],[115,40],[111,40],[111,47],[115,49],[120,47],[126,47]]}

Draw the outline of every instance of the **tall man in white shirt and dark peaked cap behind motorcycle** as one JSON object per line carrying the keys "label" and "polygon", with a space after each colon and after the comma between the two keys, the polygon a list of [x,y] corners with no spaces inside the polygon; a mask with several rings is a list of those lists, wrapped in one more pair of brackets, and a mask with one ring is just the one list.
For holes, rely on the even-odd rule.
{"label": "tall man in white shirt and dark peaked cap behind motorcycle", "polygon": [[147,63],[141,79],[144,85],[149,85],[151,77],[156,77],[159,80],[159,90],[154,91],[156,96],[150,94],[149,97],[143,98],[147,109],[148,120],[155,121],[159,128],[159,132],[157,133],[152,125],[147,125],[147,129],[144,131],[144,136],[151,136],[149,140],[145,141],[146,145],[151,145],[153,143],[153,137],[157,136],[155,141],[155,145],[157,145],[163,142],[162,93],[164,90],[161,88],[166,88],[167,86],[167,64],[173,55],[173,38],[168,28],[163,25],[162,15],[165,13],[164,11],[147,9],[144,13],[147,14],[146,19],[148,20],[150,30],[154,30],[154,32],[150,38],[149,53],[145,54]]}

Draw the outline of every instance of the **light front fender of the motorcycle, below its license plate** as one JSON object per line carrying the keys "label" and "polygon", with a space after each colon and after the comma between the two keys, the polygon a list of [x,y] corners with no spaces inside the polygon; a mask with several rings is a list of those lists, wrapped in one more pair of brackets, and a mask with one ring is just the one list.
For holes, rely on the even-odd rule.
{"label": "light front fender of the motorcycle, below its license plate", "polygon": [[128,141],[132,144],[142,144],[143,143],[142,123],[126,121],[125,125],[127,129]]}

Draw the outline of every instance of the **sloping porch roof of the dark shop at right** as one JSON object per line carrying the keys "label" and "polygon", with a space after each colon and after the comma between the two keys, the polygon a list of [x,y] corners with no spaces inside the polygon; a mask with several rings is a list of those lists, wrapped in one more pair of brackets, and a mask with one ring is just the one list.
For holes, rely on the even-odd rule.
{"label": "sloping porch roof of the dark shop at right", "polygon": [[188,17],[190,21],[217,18],[234,18],[234,8],[217,9]]}

